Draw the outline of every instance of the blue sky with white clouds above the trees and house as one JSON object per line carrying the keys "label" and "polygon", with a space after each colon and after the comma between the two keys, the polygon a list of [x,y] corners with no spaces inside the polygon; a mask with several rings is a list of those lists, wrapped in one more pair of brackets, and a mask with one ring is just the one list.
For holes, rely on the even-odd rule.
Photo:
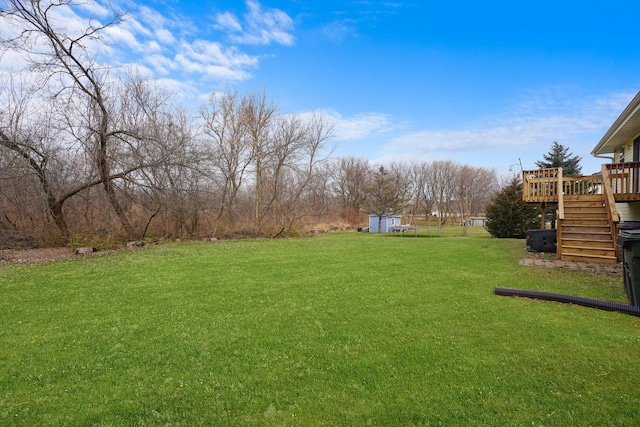
{"label": "blue sky with white clouds above the trees and house", "polygon": [[595,172],[606,161],[591,150],[640,90],[635,0],[114,4],[129,20],[108,34],[113,65],[135,65],[194,111],[231,89],[324,111],[335,155],[374,163],[507,173],[558,141]]}

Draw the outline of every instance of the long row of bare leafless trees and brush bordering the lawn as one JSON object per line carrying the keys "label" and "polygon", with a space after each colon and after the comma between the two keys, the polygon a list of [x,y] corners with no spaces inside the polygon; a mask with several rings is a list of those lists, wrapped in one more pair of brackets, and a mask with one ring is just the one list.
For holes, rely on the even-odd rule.
{"label": "long row of bare leafless trees and brush bordering the lawn", "polygon": [[[0,74],[0,228],[50,243],[109,237],[275,236],[363,213],[437,220],[484,211],[493,170],[453,161],[334,158],[334,124],[286,114],[266,93],[212,93],[191,113],[135,72],[95,59],[124,15],[56,25],[73,0],[4,0],[11,28]],[[26,72],[25,72],[26,71]]]}

